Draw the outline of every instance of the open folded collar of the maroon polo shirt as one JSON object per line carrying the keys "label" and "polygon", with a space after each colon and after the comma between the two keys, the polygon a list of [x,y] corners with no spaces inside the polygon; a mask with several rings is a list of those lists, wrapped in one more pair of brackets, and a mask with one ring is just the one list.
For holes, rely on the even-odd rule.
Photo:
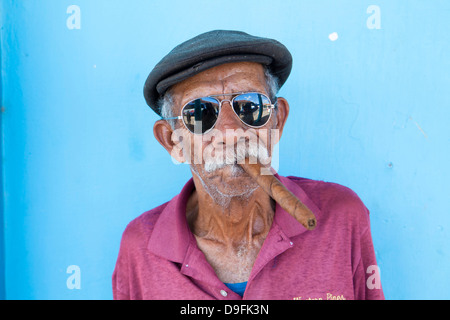
{"label": "open folded collar of the maroon polo shirt", "polygon": [[[289,191],[296,195],[316,216],[320,224],[320,209],[309,198],[305,191],[290,178],[275,174]],[[194,181],[191,178],[181,192],[169,201],[160,213],[154,226],[147,248],[154,254],[167,260],[182,263],[191,244],[196,244],[195,237],[189,229],[186,220],[186,204],[194,190]],[[276,204],[274,223],[288,237],[293,237],[307,231],[294,217]]]}

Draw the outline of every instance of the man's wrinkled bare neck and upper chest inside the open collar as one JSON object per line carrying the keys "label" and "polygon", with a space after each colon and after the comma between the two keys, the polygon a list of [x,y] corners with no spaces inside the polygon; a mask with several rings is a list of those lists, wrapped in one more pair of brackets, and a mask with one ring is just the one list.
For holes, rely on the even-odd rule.
{"label": "man's wrinkled bare neck and upper chest inside the open collar", "polygon": [[257,188],[248,197],[230,198],[224,207],[196,185],[186,209],[197,244],[218,277],[246,281],[272,225],[273,200]]}

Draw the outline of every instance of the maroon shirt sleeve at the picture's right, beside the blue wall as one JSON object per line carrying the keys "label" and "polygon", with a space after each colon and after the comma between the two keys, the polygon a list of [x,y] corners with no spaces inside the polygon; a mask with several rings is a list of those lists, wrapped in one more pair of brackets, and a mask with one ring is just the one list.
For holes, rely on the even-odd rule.
{"label": "maroon shirt sleeve at the picture's right, beside the blue wall", "polygon": [[370,226],[362,233],[360,245],[361,258],[353,275],[355,299],[384,300]]}

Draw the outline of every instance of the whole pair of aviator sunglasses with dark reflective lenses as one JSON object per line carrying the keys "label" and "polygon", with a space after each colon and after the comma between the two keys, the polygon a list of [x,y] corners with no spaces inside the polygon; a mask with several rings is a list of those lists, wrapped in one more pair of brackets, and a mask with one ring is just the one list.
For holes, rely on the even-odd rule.
{"label": "whole pair of aviator sunglasses with dark reflective lenses", "polygon": [[[231,100],[216,98],[222,96],[234,97]],[[205,134],[214,128],[224,101],[228,101],[238,118],[252,128],[260,128],[267,124],[272,115],[272,109],[276,108],[276,104],[272,104],[268,96],[259,92],[217,94],[189,101],[181,109],[181,116],[161,119],[183,120],[190,132]]]}

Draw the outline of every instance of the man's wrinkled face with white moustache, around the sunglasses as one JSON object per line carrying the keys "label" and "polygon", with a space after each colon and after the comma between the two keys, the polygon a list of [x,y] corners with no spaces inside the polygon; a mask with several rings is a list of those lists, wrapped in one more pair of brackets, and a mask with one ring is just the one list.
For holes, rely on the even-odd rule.
{"label": "man's wrinkled face with white moustache, around the sunglasses", "polygon": [[[180,115],[181,108],[193,99],[226,94],[218,99],[231,100],[232,96],[229,94],[234,92],[260,92],[269,96],[263,67],[250,62],[229,63],[176,84],[171,89],[173,114]],[[256,147],[259,154],[266,152],[269,156],[259,160],[270,165],[272,142],[277,142],[273,141],[273,137],[278,137],[274,135],[278,133],[274,131],[278,130],[277,112],[272,112],[268,123],[255,129],[244,124],[234,113],[230,103],[224,101],[214,129],[206,134],[193,134],[184,127],[182,121],[177,122],[172,139],[176,136],[181,141],[182,161],[189,162],[194,180],[202,183],[213,198],[249,195],[258,187],[237,161],[230,163],[230,152],[243,151],[245,154],[249,147]],[[228,161],[225,159],[227,153]]]}

